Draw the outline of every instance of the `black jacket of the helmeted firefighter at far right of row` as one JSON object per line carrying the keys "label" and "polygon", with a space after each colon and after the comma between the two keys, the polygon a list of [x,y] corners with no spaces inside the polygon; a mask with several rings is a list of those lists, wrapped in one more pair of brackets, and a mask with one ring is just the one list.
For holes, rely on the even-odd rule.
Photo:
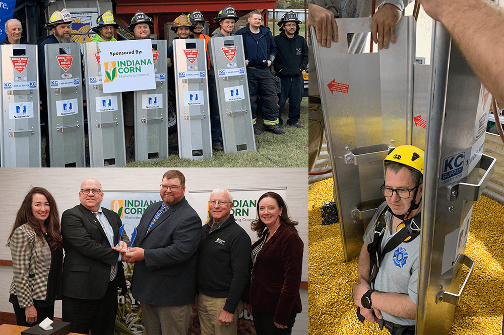
{"label": "black jacket of the helmeted firefighter at far right of row", "polygon": [[275,57],[275,71],[281,77],[295,77],[301,75],[308,64],[308,45],[306,40],[297,33],[289,38],[282,31],[274,37],[278,46],[278,54]]}

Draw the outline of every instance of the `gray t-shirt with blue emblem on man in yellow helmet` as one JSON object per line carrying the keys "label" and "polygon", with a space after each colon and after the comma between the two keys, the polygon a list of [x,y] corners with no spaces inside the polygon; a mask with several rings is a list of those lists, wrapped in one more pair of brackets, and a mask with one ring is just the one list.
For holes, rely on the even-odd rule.
{"label": "gray t-shirt with blue emblem on man in yellow helmet", "polygon": [[[387,206],[387,202],[380,205],[373,218],[369,222],[364,233],[364,243],[368,245],[374,237],[374,227],[379,215]],[[382,250],[387,242],[394,236],[392,233],[393,215],[390,212],[385,214],[385,229],[382,239]],[[386,293],[404,293],[408,294],[413,303],[416,304],[417,285],[418,285],[418,265],[420,256],[420,236],[417,236],[410,242],[402,242],[390,253],[386,254],[380,270],[374,280],[374,290]],[[404,319],[392,316],[382,311],[385,320],[402,325],[414,325],[415,320]]]}

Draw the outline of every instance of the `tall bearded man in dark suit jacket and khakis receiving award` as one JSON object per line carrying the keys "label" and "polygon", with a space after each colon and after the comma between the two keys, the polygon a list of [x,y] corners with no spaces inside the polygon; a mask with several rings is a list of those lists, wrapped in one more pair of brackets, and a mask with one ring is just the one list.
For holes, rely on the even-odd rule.
{"label": "tall bearded man in dark suit jacket and khakis receiving award", "polygon": [[147,207],[131,253],[123,254],[129,263],[135,262],[131,291],[141,301],[147,335],[188,331],[202,223],[184,192],[184,175],[166,172],[160,191],[163,201]]}

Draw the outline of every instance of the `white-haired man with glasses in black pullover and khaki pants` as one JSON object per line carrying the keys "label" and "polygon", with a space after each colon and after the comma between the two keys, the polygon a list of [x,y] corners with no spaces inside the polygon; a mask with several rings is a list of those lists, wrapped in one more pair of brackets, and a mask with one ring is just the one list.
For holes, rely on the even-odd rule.
{"label": "white-haired man with glasses in black pullover and khaki pants", "polygon": [[212,216],[201,230],[198,248],[198,316],[201,333],[236,334],[240,301],[248,282],[251,241],[231,214],[233,197],[228,190],[210,194]]}

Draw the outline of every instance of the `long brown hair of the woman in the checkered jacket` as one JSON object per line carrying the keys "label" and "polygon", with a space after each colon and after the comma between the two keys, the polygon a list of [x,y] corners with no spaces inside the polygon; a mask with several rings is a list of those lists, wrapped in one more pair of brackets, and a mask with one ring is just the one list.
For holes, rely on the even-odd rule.
{"label": "long brown hair of the woman in the checkered jacket", "polygon": [[42,235],[42,228],[40,227],[40,223],[33,216],[31,208],[34,194],[43,195],[49,203],[49,216],[47,217],[47,219],[45,219],[45,227],[47,229],[47,240],[49,241],[49,247],[52,250],[61,249],[62,238],[56,200],[54,200],[54,197],[49,193],[49,191],[41,187],[33,187],[25,196],[25,199],[21,203],[21,207],[18,210],[18,214],[16,215],[16,221],[14,221],[14,225],[12,226],[11,235],[9,235],[9,238],[7,239],[7,246],[10,246],[14,230],[25,223],[28,223],[28,225],[35,231],[35,234],[37,235],[39,241],[42,243],[42,245],[44,245],[45,239]]}

